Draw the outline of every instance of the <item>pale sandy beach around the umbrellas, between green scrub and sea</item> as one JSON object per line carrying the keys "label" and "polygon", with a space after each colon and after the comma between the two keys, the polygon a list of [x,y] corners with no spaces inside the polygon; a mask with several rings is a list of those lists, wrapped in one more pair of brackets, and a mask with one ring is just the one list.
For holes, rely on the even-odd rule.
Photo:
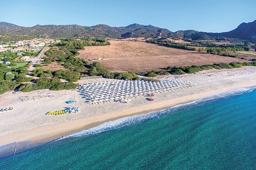
{"label": "pale sandy beach around the umbrellas, between green scrub and sea", "polygon": [[[0,109],[14,109],[0,113],[0,146],[22,141],[47,142],[125,116],[167,109],[234,88],[256,86],[256,67],[212,69],[196,74],[160,77],[162,80],[175,78],[195,83],[195,86],[157,93],[154,101],[146,100],[146,96],[139,96],[132,98],[129,103],[117,101],[98,105],[91,105],[79,89],[6,92],[0,95]],[[89,79],[79,83],[101,81],[113,80]],[[77,102],[65,103],[69,100]],[[70,106],[79,107],[80,112],[46,115],[49,111],[60,111]]]}

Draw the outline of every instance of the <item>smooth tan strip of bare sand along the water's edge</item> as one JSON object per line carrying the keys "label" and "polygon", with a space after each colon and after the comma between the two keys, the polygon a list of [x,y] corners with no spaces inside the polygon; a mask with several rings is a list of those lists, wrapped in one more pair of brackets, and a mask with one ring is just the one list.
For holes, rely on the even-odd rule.
{"label": "smooth tan strip of bare sand along the water's edge", "polygon": [[204,91],[188,96],[180,96],[172,99],[167,99],[160,102],[125,108],[117,111],[110,111],[105,114],[103,113],[99,115],[88,116],[81,119],[70,120],[54,125],[37,127],[31,130],[17,131],[15,133],[0,136],[0,146],[10,144],[12,142],[33,141],[34,144],[50,142],[63,136],[76,133],[81,130],[89,129],[91,127],[96,127],[102,123],[113,121],[123,117],[148,113],[151,111],[166,110],[175,105],[189,103],[198,99],[202,99],[206,96],[210,96],[212,94],[223,93],[236,88],[247,88],[253,86],[256,86],[256,80],[251,80],[250,82],[244,82],[238,85],[227,86],[217,90]]}

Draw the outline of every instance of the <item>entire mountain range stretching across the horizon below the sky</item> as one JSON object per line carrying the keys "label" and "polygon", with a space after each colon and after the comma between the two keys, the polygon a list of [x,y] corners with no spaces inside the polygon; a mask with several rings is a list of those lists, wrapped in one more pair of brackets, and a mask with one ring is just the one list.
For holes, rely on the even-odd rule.
{"label": "entire mountain range stretching across the horizon below the sky", "polygon": [[[256,20],[251,23],[241,23],[236,29],[222,33],[199,32],[195,30],[180,30],[176,32],[155,26],[144,26],[131,24],[123,27],[111,27],[103,24],[96,26],[79,25],[36,25],[33,27],[22,27],[15,24],[0,22],[0,40],[3,37],[29,38],[29,37],[50,37],[50,38],[71,38],[71,37],[177,37],[191,38],[192,40],[211,40],[214,37],[230,37],[241,40],[256,42]],[[17,38],[16,37],[16,38]]]}

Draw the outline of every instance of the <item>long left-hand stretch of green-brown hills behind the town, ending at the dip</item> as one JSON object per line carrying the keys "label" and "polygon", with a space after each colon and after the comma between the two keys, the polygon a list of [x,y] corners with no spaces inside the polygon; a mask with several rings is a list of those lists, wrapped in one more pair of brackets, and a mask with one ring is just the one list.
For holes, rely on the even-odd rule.
{"label": "long left-hand stretch of green-brown hills behind the town, ending at the dip", "polygon": [[27,35],[30,37],[52,37],[52,38],[70,38],[70,37],[168,37],[172,33],[165,28],[155,26],[143,26],[140,24],[131,24],[125,27],[111,27],[103,24],[96,26],[78,26],[78,25],[36,25],[33,27],[3,27],[0,28],[0,35]]}

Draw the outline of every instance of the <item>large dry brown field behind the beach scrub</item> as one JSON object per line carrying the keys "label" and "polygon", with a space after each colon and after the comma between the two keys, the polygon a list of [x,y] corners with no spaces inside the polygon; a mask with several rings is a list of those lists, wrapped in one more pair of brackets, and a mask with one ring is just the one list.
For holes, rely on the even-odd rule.
{"label": "large dry brown field behind the beach scrub", "polygon": [[[102,58],[99,61],[109,71],[135,71],[136,73],[162,70],[168,66],[205,65],[221,62],[244,62],[245,60],[224,57],[198,51],[170,48],[163,45],[134,41],[110,41],[107,46],[84,47],[78,57]],[[88,61],[91,63],[92,61]]]}

